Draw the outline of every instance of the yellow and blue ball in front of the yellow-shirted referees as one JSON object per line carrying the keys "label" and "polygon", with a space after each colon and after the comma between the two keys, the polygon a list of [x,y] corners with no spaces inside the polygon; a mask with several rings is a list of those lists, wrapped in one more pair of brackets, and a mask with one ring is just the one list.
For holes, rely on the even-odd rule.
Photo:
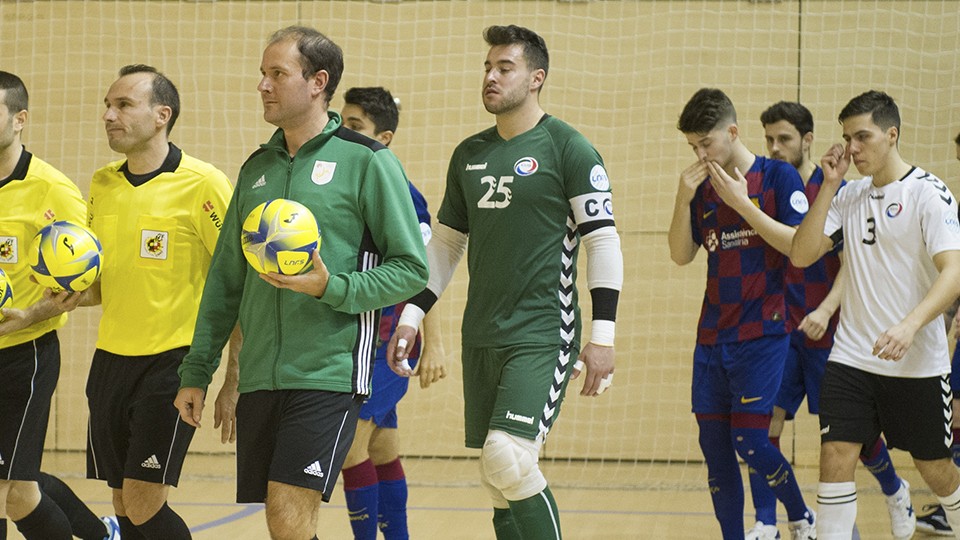
{"label": "yellow and blue ball in front of the yellow-shirted referees", "polygon": [[100,276],[103,249],[92,231],[70,221],[54,221],[33,237],[30,269],[37,283],[55,291],[79,292]]}

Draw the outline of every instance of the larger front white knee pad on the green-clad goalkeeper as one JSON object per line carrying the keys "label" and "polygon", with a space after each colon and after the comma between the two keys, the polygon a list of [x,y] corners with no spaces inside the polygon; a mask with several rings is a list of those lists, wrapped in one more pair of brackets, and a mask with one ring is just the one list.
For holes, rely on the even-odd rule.
{"label": "larger front white knee pad on the green-clad goalkeeper", "polygon": [[492,430],[480,452],[480,472],[507,500],[520,501],[547,487],[539,460],[540,443]]}

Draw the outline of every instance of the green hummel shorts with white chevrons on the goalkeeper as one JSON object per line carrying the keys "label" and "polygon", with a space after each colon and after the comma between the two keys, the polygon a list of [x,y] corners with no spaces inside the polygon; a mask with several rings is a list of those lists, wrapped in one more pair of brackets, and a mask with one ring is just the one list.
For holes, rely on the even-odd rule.
{"label": "green hummel shorts with white chevrons on the goalkeeper", "polygon": [[463,416],[467,448],[483,448],[487,432],[537,440],[560,416],[579,351],[559,345],[463,347]]}

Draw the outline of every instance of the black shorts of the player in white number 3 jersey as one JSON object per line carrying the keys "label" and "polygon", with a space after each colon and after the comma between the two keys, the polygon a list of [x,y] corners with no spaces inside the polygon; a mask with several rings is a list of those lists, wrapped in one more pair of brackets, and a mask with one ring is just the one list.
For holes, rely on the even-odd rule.
{"label": "black shorts of the player in white number 3 jersey", "polygon": [[951,458],[952,393],[947,375],[886,377],[827,362],[820,389],[820,438],[890,448],[914,459]]}

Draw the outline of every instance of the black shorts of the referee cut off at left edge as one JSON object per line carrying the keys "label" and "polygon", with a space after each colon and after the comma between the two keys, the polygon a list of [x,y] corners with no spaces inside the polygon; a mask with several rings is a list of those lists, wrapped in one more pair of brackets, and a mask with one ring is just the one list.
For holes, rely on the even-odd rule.
{"label": "black shorts of the referee cut off at left edge", "polygon": [[60,341],[46,334],[0,349],[0,479],[36,481],[60,377]]}

